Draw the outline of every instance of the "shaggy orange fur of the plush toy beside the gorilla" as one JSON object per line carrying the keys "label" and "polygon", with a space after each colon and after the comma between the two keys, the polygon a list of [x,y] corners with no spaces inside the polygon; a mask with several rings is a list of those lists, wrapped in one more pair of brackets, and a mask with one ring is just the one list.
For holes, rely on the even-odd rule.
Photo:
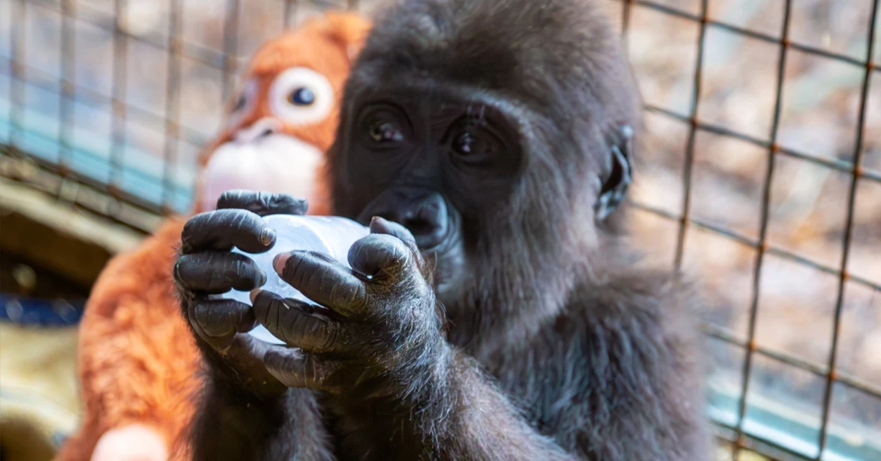
{"label": "shaggy orange fur of the plush toy beside the gorilla", "polygon": [[[275,117],[267,87],[279,72],[307,67],[326,77],[337,97],[360,48],[368,24],[358,16],[329,13],[268,41],[259,49],[242,80],[253,79],[260,90],[246,114],[236,115],[206,149],[203,165],[236,133],[259,120]],[[332,142],[338,108],[308,125],[280,120],[282,135],[324,152]],[[235,142],[240,142],[235,141]],[[256,149],[257,154],[260,153]],[[297,167],[293,160],[292,167]],[[248,163],[253,163],[248,160]],[[243,167],[252,167],[244,165]],[[322,181],[323,165],[315,168],[313,213],[329,209]],[[234,171],[234,168],[233,168]],[[201,178],[200,184],[205,178]],[[234,179],[234,178],[233,178]],[[204,211],[202,190],[194,212]],[[205,203],[208,203],[206,200]],[[171,277],[184,219],[168,219],[138,249],[115,257],[93,286],[80,327],[79,377],[85,405],[78,434],[65,443],[56,459],[126,461],[186,459],[178,440],[194,411],[193,394],[200,387],[200,359],[184,323]]]}

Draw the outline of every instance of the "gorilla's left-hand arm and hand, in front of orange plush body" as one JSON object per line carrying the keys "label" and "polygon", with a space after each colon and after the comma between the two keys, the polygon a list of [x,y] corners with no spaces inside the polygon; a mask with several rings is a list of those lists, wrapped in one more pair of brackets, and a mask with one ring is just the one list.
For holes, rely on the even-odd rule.
{"label": "gorilla's left-hand arm and hand, in front of orange plush body", "polygon": [[287,389],[263,368],[271,346],[246,333],[255,324],[250,307],[211,299],[262,283],[253,262],[229,249],[270,248],[274,233],[260,216],[306,212],[304,202],[287,198],[229,191],[218,211],[197,214],[183,227],[174,280],[209,371],[185,437],[194,461],[334,459],[312,391]]}

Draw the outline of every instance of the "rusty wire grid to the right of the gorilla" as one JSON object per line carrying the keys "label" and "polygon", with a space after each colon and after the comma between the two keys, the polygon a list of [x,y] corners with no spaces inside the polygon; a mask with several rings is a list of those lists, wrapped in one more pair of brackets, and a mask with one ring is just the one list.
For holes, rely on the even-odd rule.
{"label": "rusty wire grid to the right of the gorilla", "polygon": [[[747,400],[747,392],[749,390],[750,385],[750,376],[752,372],[752,361],[755,354],[764,355],[770,359],[775,361],[781,361],[783,363],[787,363],[789,365],[796,366],[798,368],[803,368],[805,370],[810,371],[813,374],[825,377],[825,388],[823,393],[823,402],[822,402],[822,415],[821,415],[821,426],[819,430],[819,438],[818,438],[818,450],[817,455],[814,459],[821,459],[824,457],[824,451],[826,446],[826,432],[829,426],[829,416],[830,416],[830,408],[832,404],[832,390],[833,383],[840,383],[846,385],[848,387],[855,388],[857,390],[862,390],[866,394],[881,399],[881,387],[877,385],[877,383],[868,383],[854,375],[848,375],[840,370],[836,369],[836,361],[838,358],[838,343],[839,343],[839,335],[840,335],[840,321],[841,321],[841,312],[843,309],[843,301],[844,301],[844,291],[845,285],[848,281],[852,281],[864,286],[869,286],[874,290],[881,291],[881,284],[874,282],[869,279],[863,279],[861,277],[855,276],[848,272],[848,256],[850,251],[850,242],[852,237],[852,227],[854,221],[854,210],[855,210],[855,197],[856,197],[856,188],[857,183],[860,179],[865,181],[873,181],[873,182],[881,182],[881,174],[878,172],[870,171],[862,168],[862,154],[864,152],[863,144],[864,144],[864,127],[866,121],[866,110],[868,107],[868,95],[869,95],[869,87],[870,87],[870,78],[871,74],[874,71],[879,71],[881,67],[879,67],[878,63],[874,63],[872,61],[872,56],[874,53],[874,44],[875,37],[877,33],[877,16],[878,16],[878,0],[874,0],[871,6],[870,17],[868,18],[869,27],[868,27],[868,37],[867,37],[867,49],[866,49],[866,57],[864,60],[855,59],[851,56],[840,55],[837,53],[833,53],[821,48],[814,48],[811,46],[803,45],[791,41],[789,38],[789,27],[791,21],[791,11],[792,11],[792,0],[785,0],[785,4],[783,5],[783,19],[781,22],[781,33],[780,37],[772,37],[770,35],[764,33],[757,33],[743,27],[730,25],[724,23],[719,20],[710,19],[708,15],[708,0],[700,1],[700,13],[695,15],[689,11],[682,11],[674,7],[670,7],[669,5],[659,4],[650,0],[618,0],[622,3],[622,25],[623,25],[623,33],[626,36],[629,24],[630,24],[630,15],[633,4],[638,4],[642,7],[646,7],[655,11],[662,12],[664,14],[668,14],[671,16],[675,16],[680,19],[686,19],[689,21],[696,22],[700,25],[700,33],[698,36],[698,51],[697,51],[697,59],[694,66],[694,74],[692,81],[692,94],[691,94],[691,107],[689,109],[688,115],[681,115],[670,110],[664,108],[658,108],[654,106],[648,106],[646,109],[650,112],[654,112],[656,114],[661,114],[668,116],[674,120],[677,120],[682,123],[687,123],[689,126],[688,130],[688,138],[685,146],[685,167],[683,171],[684,177],[684,187],[685,193],[682,204],[682,214],[677,216],[670,212],[665,212],[656,207],[648,206],[645,204],[635,204],[642,210],[647,212],[653,212],[659,216],[662,216],[666,219],[672,219],[678,222],[678,234],[677,234],[677,242],[676,242],[676,257],[674,264],[677,268],[679,268],[682,264],[683,252],[685,249],[685,235],[689,226],[700,227],[702,229],[708,230],[710,232],[714,232],[716,234],[723,235],[729,239],[732,239],[736,242],[740,242],[748,247],[756,250],[756,260],[753,265],[753,277],[752,277],[752,294],[751,294],[751,303],[750,303],[750,314],[749,314],[749,327],[746,340],[741,340],[737,338],[732,331],[728,331],[725,328],[705,323],[704,330],[710,336],[714,338],[721,339],[723,341],[729,342],[735,346],[738,346],[744,351],[744,366],[742,370],[741,376],[741,391],[739,395],[739,403],[737,410],[737,424],[734,426],[728,426],[723,423],[717,421],[717,424],[730,429],[730,432],[723,432],[723,435],[727,435],[730,442],[733,442],[733,452],[731,454],[733,459],[737,459],[739,452],[744,447],[751,448],[759,448],[770,445],[772,448],[777,450],[782,450],[784,453],[789,455],[793,455],[796,457],[803,457],[803,453],[798,453],[788,448],[781,446],[778,442],[772,440],[761,440],[754,435],[747,435],[744,433],[744,420],[746,413],[746,400]],[[779,46],[779,56],[777,62],[777,71],[776,71],[776,87],[775,87],[775,102],[774,102],[774,119],[771,125],[771,132],[769,134],[769,140],[765,141],[759,138],[752,137],[750,135],[737,132],[735,130],[729,130],[727,128],[723,128],[721,126],[716,126],[711,123],[705,123],[698,118],[698,108],[700,104],[700,86],[702,82],[702,71],[703,71],[703,58],[704,58],[704,43],[705,43],[705,35],[708,27],[717,27],[723,30],[726,30],[730,33],[737,33],[743,36],[751,37],[753,39],[757,39],[760,41],[766,41],[768,43],[774,43]],[[797,152],[792,149],[787,149],[782,147],[777,143],[777,134],[780,127],[781,121],[781,107],[782,107],[782,89],[784,85],[784,69],[786,67],[787,54],[790,49],[797,49],[802,51],[803,53],[816,55],[816,56],[824,56],[829,59],[833,59],[836,61],[840,61],[842,63],[849,63],[855,66],[860,66],[865,69],[864,75],[862,77],[862,89],[861,89],[861,98],[860,98],[860,107],[859,107],[859,115],[857,122],[857,130],[855,133],[856,143],[855,143],[855,155],[852,162],[848,162],[845,160],[826,160],[822,158],[818,158],[809,153],[805,152]],[[714,133],[717,135],[727,136],[731,138],[737,138],[743,140],[752,145],[758,145],[760,147],[767,149],[767,164],[766,164],[766,175],[764,178],[763,186],[762,186],[762,208],[761,208],[761,217],[760,217],[760,226],[759,226],[759,238],[752,239],[743,234],[738,234],[737,232],[727,229],[724,227],[719,227],[714,224],[702,221],[700,219],[695,219],[691,216],[691,201],[692,201],[692,169],[694,165],[694,145],[695,138],[698,131],[703,130],[710,133]],[[787,249],[782,249],[775,247],[774,245],[767,242],[767,227],[768,227],[768,205],[770,203],[770,190],[771,190],[771,182],[774,177],[774,160],[778,155],[788,155],[791,157],[795,157],[802,160],[811,161],[813,163],[817,163],[818,165],[822,165],[824,167],[832,168],[839,171],[847,172],[851,175],[851,180],[848,189],[848,205],[847,205],[847,220],[845,224],[844,238],[842,241],[842,253],[840,258],[839,267],[831,267],[826,264],[820,264],[818,262],[812,261],[807,257],[802,257],[797,255],[794,252],[788,251]],[[832,335],[832,346],[829,353],[828,361],[825,366],[818,366],[810,361],[804,361],[792,354],[782,353],[774,350],[770,350],[766,347],[759,346],[756,341],[756,325],[757,325],[757,312],[759,308],[759,284],[760,284],[760,274],[762,271],[762,263],[766,254],[774,254],[777,257],[782,257],[784,259],[788,259],[794,261],[798,264],[804,264],[810,266],[818,271],[824,271],[839,277],[838,283],[838,291],[836,294],[835,301],[835,309],[834,309],[834,317],[833,317],[833,331],[831,331]]]}

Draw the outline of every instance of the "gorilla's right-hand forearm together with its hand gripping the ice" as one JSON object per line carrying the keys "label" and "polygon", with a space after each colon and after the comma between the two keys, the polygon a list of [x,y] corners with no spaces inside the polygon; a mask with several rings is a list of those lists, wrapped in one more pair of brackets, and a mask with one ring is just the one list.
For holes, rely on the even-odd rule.
{"label": "gorilla's right-hand forearm together with its hand gripping the ice", "polygon": [[336,432],[344,435],[339,453],[572,458],[531,428],[477,363],[441,336],[440,312],[410,232],[380,218],[371,231],[350,251],[354,271],[319,253],[277,258],[283,279],[329,309],[268,292],[252,295],[256,319],[305,351],[270,352],[264,363],[282,383],[333,396]]}

